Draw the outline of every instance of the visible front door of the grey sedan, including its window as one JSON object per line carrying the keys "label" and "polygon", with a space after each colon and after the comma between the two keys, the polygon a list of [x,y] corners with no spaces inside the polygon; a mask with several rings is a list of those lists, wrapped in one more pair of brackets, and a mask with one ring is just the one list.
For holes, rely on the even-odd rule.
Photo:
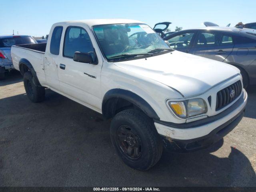
{"label": "visible front door of the grey sedan, including its window", "polygon": [[192,42],[195,37],[195,31],[180,31],[164,38],[170,43],[170,48],[178,51],[191,53]]}

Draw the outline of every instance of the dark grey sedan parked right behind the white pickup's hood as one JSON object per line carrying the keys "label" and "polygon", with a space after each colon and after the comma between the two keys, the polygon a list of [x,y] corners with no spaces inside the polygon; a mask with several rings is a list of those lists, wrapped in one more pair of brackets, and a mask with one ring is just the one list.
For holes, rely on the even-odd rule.
{"label": "dark grey sedan parked right behind the white pickup's hood", "polygon": [[256,30],[208,26],[182,30],[164,38],[170,48],[239,68],[243,84],[256,84]]}

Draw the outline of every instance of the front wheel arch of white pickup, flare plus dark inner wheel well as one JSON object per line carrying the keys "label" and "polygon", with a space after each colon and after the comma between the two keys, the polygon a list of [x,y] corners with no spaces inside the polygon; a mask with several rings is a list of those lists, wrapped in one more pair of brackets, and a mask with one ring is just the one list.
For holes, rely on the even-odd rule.
{"label": "front wheel arch of white pickup, flare plus dark inner wheel well", "polygon": [[154,109],[139,95],[124,89],[112,89],[106,92],[102,101],[102,115],[109,119],[118,112],[135,107],[144,112],[150,118],[160,120]]}

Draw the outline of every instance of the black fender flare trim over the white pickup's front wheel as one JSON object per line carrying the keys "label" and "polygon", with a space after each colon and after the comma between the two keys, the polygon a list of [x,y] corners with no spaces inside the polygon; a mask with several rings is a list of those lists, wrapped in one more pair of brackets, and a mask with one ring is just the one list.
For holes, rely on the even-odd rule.
{"label": "black fender flare trim over the white pickup's front wheel", "polygon": [[128,102],[140,108],[140,110],[142,110],[150,118],[153,118],[155,120],[160,120],[160,118],[158,117],[154,109],[142,97],[138,96],[137,94],[129,90],[124,90],[120,88],[109,90],[104,95],[102,100],[102,115],[105,118],[111,117],[111,115],[108,112],[109,110],[108,101],[112,98],[122,98],[124,100],[127,100]]}

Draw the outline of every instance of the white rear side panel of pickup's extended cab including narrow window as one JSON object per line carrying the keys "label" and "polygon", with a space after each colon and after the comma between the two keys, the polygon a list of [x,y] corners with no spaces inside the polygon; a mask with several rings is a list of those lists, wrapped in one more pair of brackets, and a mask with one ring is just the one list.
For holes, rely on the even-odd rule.
{"label": "white rear side panel of pickup's extended cab including narrow window", "polygon": [[[44,73],[47,84],[55,90],[60,90],[58,78],[58,61],[60,54],[60,41],[62,37],[62,26],[54,27],[50,40],[50,48],[44,55]],[[48,47],[47,47],[48,48]]]}

